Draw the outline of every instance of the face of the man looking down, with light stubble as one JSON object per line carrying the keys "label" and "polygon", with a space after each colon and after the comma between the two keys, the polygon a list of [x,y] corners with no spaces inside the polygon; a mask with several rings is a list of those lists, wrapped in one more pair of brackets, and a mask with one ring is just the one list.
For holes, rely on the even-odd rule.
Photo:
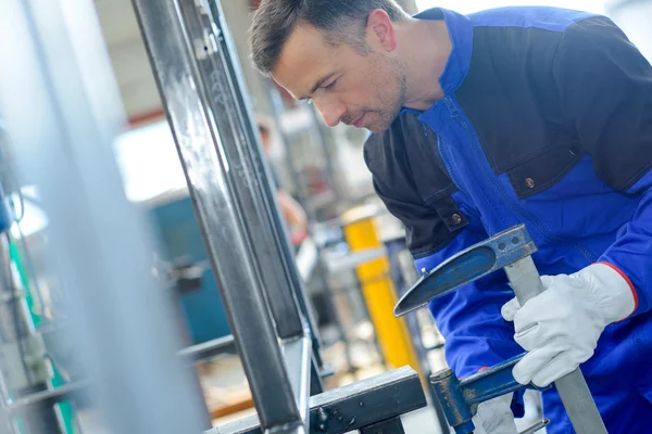
{"label": "face of the man looking down, with light stubble", "polygon": [[329,44],[312,26],[299,25],[273,71],[276,82],[297,99],[312,99],[335,127],[340,122],[374,132],[387,129],[405,101],[399,62],[373,44],[360,53]]}

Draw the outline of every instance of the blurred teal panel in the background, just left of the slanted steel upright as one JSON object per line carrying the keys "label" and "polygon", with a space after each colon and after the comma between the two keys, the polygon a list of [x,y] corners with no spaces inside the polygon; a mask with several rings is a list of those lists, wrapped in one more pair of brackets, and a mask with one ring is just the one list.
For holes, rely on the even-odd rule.
{"label": "blurred teal panel in the background, just left of the slanted steel upright", "polygon": [[[150,207],[148,217],[158,230],[162,260],[189,257],[193,263],[208,261],[209,255],[188,195]],[[184,293],[180,301],[192,344],[231,334],[210,268],[202,275],[201,288]]]}

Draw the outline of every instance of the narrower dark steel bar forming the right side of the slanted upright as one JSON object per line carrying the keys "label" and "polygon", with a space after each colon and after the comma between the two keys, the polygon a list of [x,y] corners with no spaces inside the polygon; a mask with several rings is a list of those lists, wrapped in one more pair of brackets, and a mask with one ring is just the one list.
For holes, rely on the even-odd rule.
{"label": "narrower dark steel bar forming the right side of the slanted upright", "polygon": [[[269,168],[260,145],[258,128],[253,127],[253,116],[244,98],[246,87],[237,58],[234,59],[236,51],[230,33],[220,2],[206,0],[206,7],[210,10],[198,16],[197,8],[190,8],[188,2],[179,2],[189,29],[214,31],[214,55],[198,62],[206,84],[206,101],[218,114],[215,125],[222,139],[228,143],[224,146],[226,157],[242,164],[240,179],[234,179],[234,190],[242,203],[242,217],[259,259],[260,276],[268,293],[278,336],[297,337],[303,333],[303,318],[298,309],[297,297],[301,278],[281,222],[276,192],[271,187]],[[226,105],[228,110],[225,110]]]}

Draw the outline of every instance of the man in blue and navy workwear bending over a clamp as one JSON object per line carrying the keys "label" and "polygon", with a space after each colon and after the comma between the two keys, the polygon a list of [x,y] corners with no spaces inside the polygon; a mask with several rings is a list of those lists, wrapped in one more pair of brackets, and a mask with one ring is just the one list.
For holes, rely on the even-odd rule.
{"label": "man in blue and navy workwear bending over a clamp", "polygon": [[[652,425],[652,67],[609,18],[552,8],[415,17],[392,0],[267,0],[253,61],[365,157],[416,267],[517,224],[547,291],[521,307],[492,273],[430,305],[465,376],[548,385],[582,363],[610,433]],[[512,410],[518,412],[518,397]],[[573,432],[543,393],[549,433]],[[513,433],[510,399],[480,406]],[[479,430],[478,430],[479,431]]]}

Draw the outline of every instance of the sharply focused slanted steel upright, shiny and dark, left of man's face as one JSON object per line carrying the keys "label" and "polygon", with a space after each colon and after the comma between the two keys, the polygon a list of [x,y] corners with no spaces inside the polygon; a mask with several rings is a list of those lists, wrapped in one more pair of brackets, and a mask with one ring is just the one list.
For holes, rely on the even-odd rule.
{"label": "sharply focused slanted steel upright, shiny and dark, left of man's face", "polygon": [[134,4],[262,427],[304,433],[300,279],[226,27],[208,0]]}

